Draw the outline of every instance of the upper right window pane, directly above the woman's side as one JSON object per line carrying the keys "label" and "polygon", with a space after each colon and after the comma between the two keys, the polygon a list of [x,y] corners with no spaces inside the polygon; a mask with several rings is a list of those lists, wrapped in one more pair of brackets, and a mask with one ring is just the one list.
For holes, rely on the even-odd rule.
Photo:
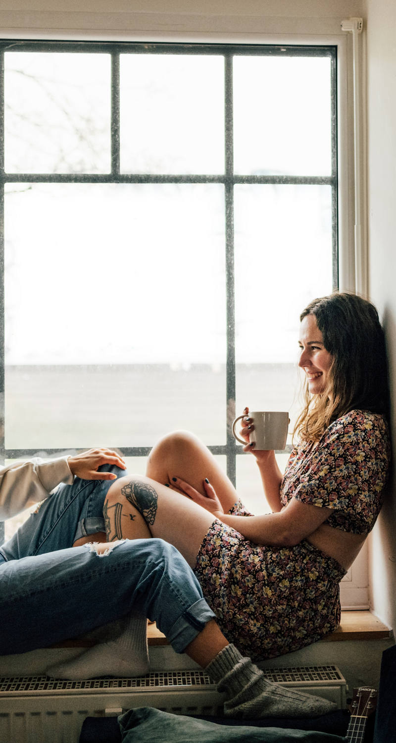
{"label": "upper right window pane, directly above the woman's side", "polygon": [[233,77],[236,173],[330,175],[330,58],[236,56]]}

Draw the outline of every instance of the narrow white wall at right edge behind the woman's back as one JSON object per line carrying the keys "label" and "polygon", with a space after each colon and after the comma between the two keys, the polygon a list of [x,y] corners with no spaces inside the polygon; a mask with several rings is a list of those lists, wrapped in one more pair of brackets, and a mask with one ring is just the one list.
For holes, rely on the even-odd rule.
{"label": "narrow white wall at right edge behind the woman's back", "polygon": [[[367,102],[370,296],[389,344],[392,429],[396,441],[396,4],[367,0]],[[394,441],[394,458],[395,458]],[[396,478],[371,539],[374,611],[396,629]]]}

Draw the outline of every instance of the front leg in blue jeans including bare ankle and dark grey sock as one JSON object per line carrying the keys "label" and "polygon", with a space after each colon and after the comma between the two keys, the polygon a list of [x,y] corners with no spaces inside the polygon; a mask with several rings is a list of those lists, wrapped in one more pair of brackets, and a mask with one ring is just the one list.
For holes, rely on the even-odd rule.
{"label": "front leg in blue jeans including bare ankle and dark grey sock", "polygon": [[[140,609],[156,620],[176,652],[207,667],[227,695],[228,715],[315,716],[334,707],[271,684],[242,658],[215,624],[198,581],[172,545],[162,539],[126,540],[107,550],[85,545],[1,565],[0,653],[46,646],[69,631],[87,632]],[[88,666],[90,652],[85,653]],[[96,674],[91,668],[88,675]]]}

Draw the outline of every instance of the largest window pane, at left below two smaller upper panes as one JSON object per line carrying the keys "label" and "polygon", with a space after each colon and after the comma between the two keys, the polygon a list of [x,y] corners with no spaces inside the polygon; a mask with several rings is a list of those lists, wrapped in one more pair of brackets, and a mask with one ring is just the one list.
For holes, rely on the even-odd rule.
{"label": "largest window pane, at left below two smaller upper panes", "polygon": [[222,443],[224,282],[222,186],[11,184],[6,446]]}

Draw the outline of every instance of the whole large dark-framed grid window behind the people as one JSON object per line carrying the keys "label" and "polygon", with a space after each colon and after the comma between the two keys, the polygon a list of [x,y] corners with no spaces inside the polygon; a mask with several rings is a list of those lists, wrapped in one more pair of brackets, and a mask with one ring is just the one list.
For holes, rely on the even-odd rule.
{"label": "whole large dark-framed grid window behind the people", "polygon": [[1,54],[2,460],[108,445],[143,472],[187,428],[263,512],[230,422],[293,421],[299,313],[337,288],[336,48]]}

